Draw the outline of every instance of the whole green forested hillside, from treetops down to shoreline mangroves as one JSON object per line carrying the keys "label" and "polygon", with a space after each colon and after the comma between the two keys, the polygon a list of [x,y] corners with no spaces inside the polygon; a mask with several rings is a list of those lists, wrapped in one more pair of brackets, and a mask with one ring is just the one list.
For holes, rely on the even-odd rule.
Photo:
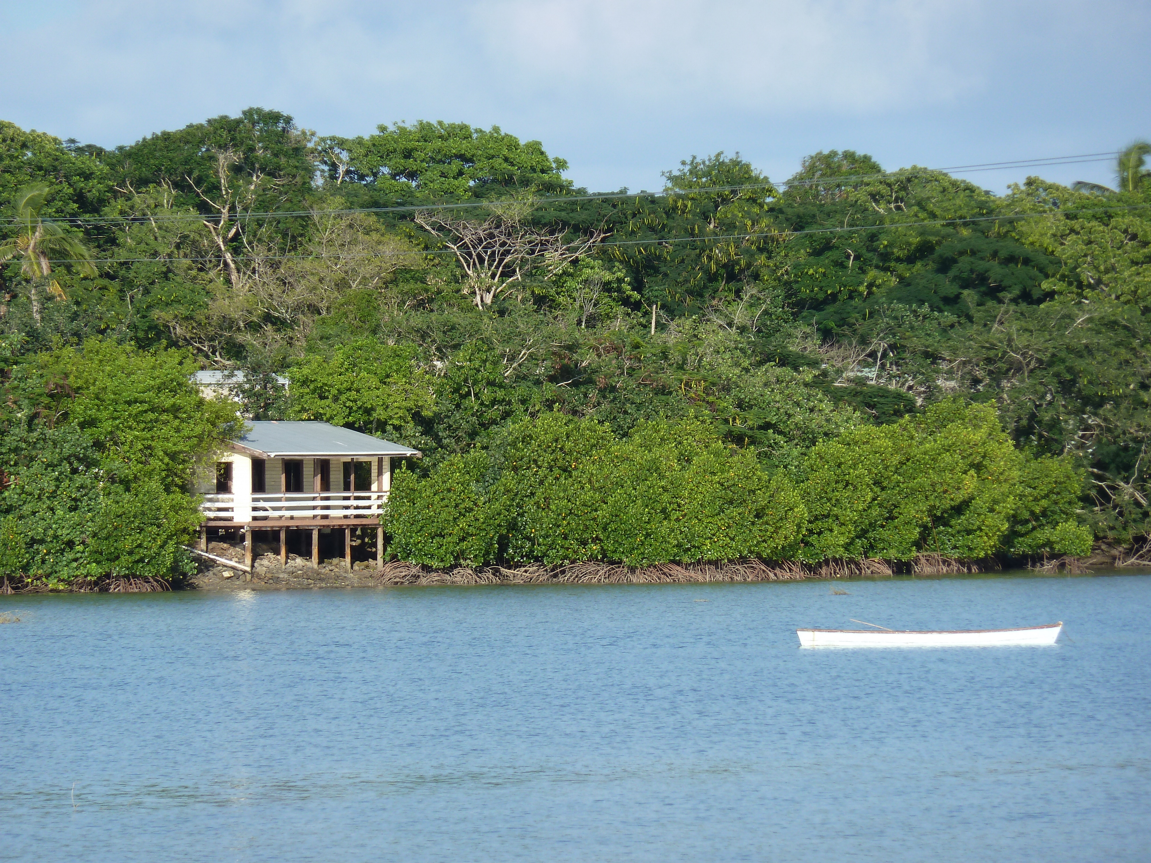
{"label": "whole green forested hillside, from treetops down to shoreline mangroves", "polygon": [[593,194],[462,123],[0,122],[0,574],[191,571],[192,472],[243,422],[197,368],[245,373],[243,417],[422,450],[389,550],[429,566],[1136,559],[1149,153],[1004,196],[717,153]]}

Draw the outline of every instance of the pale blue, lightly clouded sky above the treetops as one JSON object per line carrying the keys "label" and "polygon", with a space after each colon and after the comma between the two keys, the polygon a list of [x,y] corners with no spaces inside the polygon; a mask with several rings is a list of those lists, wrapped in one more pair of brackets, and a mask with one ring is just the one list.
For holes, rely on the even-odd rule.
{"label": "pale blue, lightly clouded sky above the treetops", "polygon": [[[0,119],[106,147],[249,106],[321,135],[462,121],[542,142],[578,186],[655,190],[719,151],[775,181],[832,148],[1110,153],[1151,138],[1149,37],[1146,0],[0,0]],[[962,176],[1028,174],[1114,169]]]}

